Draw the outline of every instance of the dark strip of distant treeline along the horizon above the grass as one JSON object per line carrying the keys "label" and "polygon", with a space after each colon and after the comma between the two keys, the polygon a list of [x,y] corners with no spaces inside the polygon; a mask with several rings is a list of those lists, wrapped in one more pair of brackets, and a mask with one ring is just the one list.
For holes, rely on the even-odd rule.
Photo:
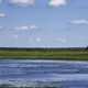
{"label": "dark strip of distant treeline along the horizon above the grass", "polygon": [[84,51],[87,47],[0,47],[0,51]]}

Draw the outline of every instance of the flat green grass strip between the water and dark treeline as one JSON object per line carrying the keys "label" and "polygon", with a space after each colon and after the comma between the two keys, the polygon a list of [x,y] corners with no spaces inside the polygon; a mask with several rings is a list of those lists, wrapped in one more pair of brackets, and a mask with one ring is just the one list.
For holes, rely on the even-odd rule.
{"label": "flat green grass strip between the water and dark treeline", "polygon": [[88,61],[88,50],[7,50],[0,51],[2,58],[32,58],[32,59],[72,59],[72,61]]}

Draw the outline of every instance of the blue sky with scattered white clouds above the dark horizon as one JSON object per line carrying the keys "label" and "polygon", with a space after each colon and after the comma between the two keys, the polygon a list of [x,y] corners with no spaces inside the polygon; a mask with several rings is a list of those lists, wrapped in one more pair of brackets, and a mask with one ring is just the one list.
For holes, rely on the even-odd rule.
{"label": "blue sky with scattered white clouds above the dark horizon", "polygon": [[0,0],[0,47],[88,45],[88,0]]}

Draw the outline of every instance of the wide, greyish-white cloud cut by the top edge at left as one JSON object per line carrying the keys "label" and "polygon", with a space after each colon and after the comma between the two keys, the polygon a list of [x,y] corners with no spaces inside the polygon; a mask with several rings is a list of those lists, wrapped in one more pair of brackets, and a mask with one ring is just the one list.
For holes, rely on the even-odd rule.
{"label": "wide, greyish-white cloud cut by the top edge at left", "polygon": [[9,0],[9,3],[16,4],[20,7],[34,6],[35,0]]}

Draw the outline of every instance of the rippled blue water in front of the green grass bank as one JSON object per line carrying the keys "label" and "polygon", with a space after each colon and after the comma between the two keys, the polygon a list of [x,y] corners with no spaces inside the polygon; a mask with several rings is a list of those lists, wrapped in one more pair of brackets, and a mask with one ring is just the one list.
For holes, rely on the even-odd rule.
{"label": "rippled blue water in front of the green grass bank", "polygon": [[88,62],[0,61],[0,84],[88,88]]}

